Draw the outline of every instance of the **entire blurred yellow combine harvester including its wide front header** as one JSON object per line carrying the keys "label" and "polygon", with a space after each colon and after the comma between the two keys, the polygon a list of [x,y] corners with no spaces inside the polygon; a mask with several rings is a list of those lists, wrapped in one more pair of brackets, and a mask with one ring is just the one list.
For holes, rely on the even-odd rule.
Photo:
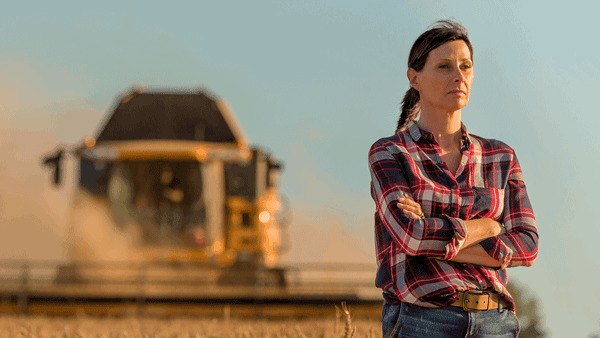
{"label": "entire blurred yellow combine harvester including its wide front header", "polygon": [[[207,90],[122,96],[95,137],[44,159],[55,185],[66,153],[79,162],[68,263],[0,265],[18,276],[2,279],[3,307],[298,316],[347,302],[355,314],[380,314],[372,267],[279,265],[289,242],[282,164],[250,147]],[[51,282],[36,279],[48,269]]]}

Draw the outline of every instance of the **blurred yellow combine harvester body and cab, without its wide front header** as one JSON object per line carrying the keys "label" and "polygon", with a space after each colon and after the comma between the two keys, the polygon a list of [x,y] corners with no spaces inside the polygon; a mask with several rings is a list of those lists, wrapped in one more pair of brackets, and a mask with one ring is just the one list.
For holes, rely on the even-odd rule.
{"label": "blurred yellow combine harvester body and cab, without its wide front header", "polygon": [[[56,185],[63,153],[44,160]],[[90,262],[121,262],[157,263],[172,278],[210,266],[194,278],[216,284],[254,284],[260,270],[263,282],[285,286],[282,165],[248,145],[225,101],[206,90],[135,89],[71,153],[79,184],[59,283],[101,278],[82,268]]]}

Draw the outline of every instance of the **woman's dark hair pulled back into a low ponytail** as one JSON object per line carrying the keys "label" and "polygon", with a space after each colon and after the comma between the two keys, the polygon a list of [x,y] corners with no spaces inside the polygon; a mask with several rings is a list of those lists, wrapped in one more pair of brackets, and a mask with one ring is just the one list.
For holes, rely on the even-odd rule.
{"label": "woman's dark hair pulled back into a low ponytail", "polygon": [[[471,60],[473,59],[473,45],[467,36],[467,30],[459,23],[450,20],[437,21],[430,29],[421,34],[408,55],[408,68],[412,68],[417,72],[423,70],[429,52],[445,44],[446,42],[463,40],[469,51],[471,52]],[[410,87],[404,94],[404,99],[400,106],[400,118],[398,119],[398,127],[396,131],[400,131],[406,127],[408,122],[414,120],[421,111],[419,102],[419,92]]]}

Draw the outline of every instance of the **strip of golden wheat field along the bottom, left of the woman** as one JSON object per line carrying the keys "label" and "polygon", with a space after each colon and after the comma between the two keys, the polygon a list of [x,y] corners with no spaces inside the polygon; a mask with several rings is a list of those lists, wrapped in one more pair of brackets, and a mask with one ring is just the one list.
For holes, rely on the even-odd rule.
{"label": "strip of golden wheat field along the bottom, left of the woman", "polygon": [[45,317],[0,316],[0,338],[373,338],[381,323],[352,318],[346,307],[336,317],[311,319]]}

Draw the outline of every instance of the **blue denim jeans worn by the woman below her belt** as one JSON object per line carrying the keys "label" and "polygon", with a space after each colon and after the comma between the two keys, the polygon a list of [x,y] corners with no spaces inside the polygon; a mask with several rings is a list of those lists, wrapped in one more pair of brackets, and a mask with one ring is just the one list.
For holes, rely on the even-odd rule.
{"label": "blue denim jeans worn by the woman below her belt", "polygon": [[[385,297],[384,297],[385,299]],[[381,316],[385,338],[516,338],[519,320],[513,311],[493,309],[467,312],[459,307],[426,308],[383,302]]]}

